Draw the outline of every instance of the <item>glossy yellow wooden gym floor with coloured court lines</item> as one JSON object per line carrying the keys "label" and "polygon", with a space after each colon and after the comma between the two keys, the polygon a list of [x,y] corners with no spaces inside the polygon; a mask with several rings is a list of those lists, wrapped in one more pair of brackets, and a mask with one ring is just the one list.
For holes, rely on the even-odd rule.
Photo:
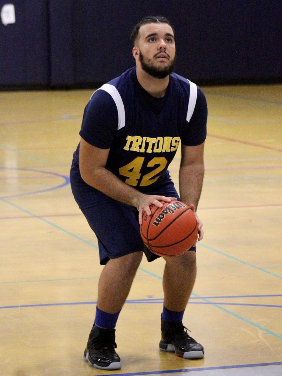
{"label": "glossy yellow wooden gym floor with coloured court lines", "polygon": [[[92,91],[0,93],[0,375],[282,374],[282,85],[202,89],[205,237],[183,323],[205,358],[159,352],[164,262],[143,259],[118,320],[118,371],[82,359],[102,267],[68,174]],[[179,154],[176,186],[178,166]]]}

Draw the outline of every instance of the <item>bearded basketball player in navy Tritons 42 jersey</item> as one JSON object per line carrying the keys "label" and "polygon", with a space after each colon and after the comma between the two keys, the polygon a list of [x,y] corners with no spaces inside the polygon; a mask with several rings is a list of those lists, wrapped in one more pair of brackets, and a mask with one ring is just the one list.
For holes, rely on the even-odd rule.
{"label": "bearded basketball player in navy Tritons 42 jersey", "polygon": [[[103,85],[86,105],[70,174],[74,198],[97,236],[100,264],[105,265],[84,352],[89,364],[104,370],[121,368],[114,328],[143,252],[148,261],[159,257],[144,249],[142,214],[151,214],[151,204],[161,207],[161,200],[180,199],[167,169],[180,140],[180,197],[194,211],[198,240],[203,238],[196,208],[204,175],[205,96],[172,73],[174,31],[166,18],[141,20],[132,41],[136,67]],[[187,359],[204,356],[203,346],[182,324],[196,278],[195,246],[164,257],[159,348]]]}

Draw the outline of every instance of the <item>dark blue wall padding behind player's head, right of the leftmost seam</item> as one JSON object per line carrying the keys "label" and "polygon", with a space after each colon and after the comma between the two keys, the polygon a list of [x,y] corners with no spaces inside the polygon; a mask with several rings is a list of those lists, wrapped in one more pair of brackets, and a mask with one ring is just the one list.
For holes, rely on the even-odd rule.
{"label": "dark blue wall padding behind player's head, right of the leftmost seam", "polygon": [[50,0],[52,85],[106,82],[135,64],[146,15],[176,29],[176,72],[195,81],[282,78],[280,1]]}

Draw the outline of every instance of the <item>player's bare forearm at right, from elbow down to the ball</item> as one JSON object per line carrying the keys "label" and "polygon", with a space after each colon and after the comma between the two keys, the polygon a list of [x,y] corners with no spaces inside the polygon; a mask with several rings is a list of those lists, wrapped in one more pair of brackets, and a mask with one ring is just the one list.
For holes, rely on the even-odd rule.
{"label": "player's bare forearm at right, from elbow down to the ball", "polygon": [[202,192],[204,172],[205,167],[203,163],[180,165],[180,199],[187,205],[193,204],[196,210]]}

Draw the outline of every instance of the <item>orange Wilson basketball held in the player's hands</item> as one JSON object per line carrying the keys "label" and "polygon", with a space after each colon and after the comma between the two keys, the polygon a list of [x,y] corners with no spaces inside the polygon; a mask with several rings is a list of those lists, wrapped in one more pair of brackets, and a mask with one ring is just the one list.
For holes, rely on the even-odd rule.
{"label": "orange Wilson basketball held in the player's hands", "polygon": [[182,255],[197,239],[196,217],[186,204],[177,199],[161,203],[162,208],[150,206],[152,215],[144,212],[140,225],[141,238],[156,255]]}

